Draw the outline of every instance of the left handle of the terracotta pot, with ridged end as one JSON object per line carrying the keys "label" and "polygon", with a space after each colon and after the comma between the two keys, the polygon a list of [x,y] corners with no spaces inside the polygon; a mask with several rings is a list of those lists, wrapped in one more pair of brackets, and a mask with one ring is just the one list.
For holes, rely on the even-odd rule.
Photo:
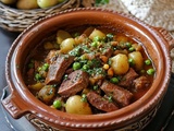
{"label": "left handle of the terracotta pot, with ridged end", "polygon": [[18,95],[14,92],[7,96],[7,88],[8,86],[3,90],[3,94],[1,97],[2,106],[14,119],[18,119],[28,112],[28,108],[23,102],[21,102]]}

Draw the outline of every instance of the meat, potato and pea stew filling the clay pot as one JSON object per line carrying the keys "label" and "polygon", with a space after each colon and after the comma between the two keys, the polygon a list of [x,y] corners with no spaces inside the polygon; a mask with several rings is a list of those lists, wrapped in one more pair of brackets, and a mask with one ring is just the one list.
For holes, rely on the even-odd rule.
{"label": "meat, potato and pea stew filling the clay pot", "polygon": [[151,86],[156,69],[142,44],[121,33],[59,29],[28,56],[25,82],[51,108],[91,115],[121,109]]}

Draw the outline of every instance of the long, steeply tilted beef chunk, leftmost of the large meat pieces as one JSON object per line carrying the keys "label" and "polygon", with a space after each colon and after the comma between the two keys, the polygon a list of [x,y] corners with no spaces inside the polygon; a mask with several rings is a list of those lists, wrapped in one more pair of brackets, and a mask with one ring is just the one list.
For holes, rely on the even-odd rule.
{"label": "long, steeply tilted beef chunk, leftmost of the large meat pieces", "polygon": [[46,84],[59,84],[66,69],[73,63],[74,57],[69,55],[59,55],[50,67],[46,78]]}

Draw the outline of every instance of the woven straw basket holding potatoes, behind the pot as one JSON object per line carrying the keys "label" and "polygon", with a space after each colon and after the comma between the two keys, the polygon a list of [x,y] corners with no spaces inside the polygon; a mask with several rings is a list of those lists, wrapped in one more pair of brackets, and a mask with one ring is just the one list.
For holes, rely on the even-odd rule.
{"label": "woven straw basket holding potatoes, behind the pot", "polygon": [[17,10],[0,2],[0,27],[10,32],[22,32],[41,17],[79,5],[80,0],[65,0],[48,9]]}

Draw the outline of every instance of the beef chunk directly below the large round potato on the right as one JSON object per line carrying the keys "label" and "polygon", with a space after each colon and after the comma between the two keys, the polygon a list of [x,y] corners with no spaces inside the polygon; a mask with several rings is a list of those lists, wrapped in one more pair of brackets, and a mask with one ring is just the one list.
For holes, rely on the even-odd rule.
{"label": "beef chunk directly below the large round potato on the right", "polygon": [[129,68],[128,72],[122,78],[119,83],[120,86],[127,87],[132,86],[133,81],[138,76],[133,68]]}

